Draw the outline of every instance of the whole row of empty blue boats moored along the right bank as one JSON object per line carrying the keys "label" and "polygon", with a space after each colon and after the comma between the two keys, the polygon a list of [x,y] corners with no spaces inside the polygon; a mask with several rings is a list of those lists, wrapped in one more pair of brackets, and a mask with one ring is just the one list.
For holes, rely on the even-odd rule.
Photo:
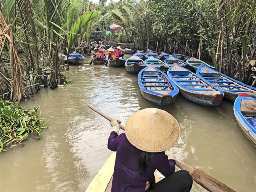
{"label": "whole row of empty blue boats moored along the right bank", "polygon": [[214,70],[204,61],[179,54],[137,52],[125,61],[125,67],[128,72],[138,73],[140,92],[155,105],[169,105],[178,93],[204,106],[217,106],[223,97],[234,102],[238,125],[256,146],[254,87]]}

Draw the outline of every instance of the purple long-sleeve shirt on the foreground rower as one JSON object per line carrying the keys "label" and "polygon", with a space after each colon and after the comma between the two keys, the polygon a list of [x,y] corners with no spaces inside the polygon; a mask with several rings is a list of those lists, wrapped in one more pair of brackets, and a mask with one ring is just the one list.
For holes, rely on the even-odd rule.
{"label": "purple long-sleeve shirt on the foreground rower", "polygon": [[175,161],[168,160],[164,152],[152,153],[144,175],[139,172],[138,149],[126,138],[125,133],[119,136],[112,132],[108,140],[108,148],[116,151],[112,192],[144,192],[146,182],[150,180],[157,169],[167,177],[175,171]]}

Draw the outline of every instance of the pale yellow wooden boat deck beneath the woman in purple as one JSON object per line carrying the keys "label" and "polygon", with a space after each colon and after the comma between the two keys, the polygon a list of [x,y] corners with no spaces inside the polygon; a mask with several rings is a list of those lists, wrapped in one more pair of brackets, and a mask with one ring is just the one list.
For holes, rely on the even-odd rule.
{"label": "pale yellow wooden boat deck beneath the woman in purple", "polygon": [[[116,152],[113,152],[94,177],[93,181],[91,181],[85,192],[111,192],[115,160]],[[155,181],[159,181],[156,174]]]}

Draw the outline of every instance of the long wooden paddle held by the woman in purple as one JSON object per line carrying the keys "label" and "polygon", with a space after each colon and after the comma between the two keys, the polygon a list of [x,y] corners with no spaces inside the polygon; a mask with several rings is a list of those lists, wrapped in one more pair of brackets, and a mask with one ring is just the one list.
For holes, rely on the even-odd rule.
{"label": "long wooden paddle held by the woman in purple", "polygon": [[[107,116],[93,105],[88,105],[89,108],[94,110],[96,113],[100,114],[102,117],[106,118],[109,121],[112,121],[113,118]],[[120,125],[120,128],[124,130],[124,126]],[[209,176],[208,174],[202,172],[199,169],[193,168],[189,165],[181,163],[180,161],[176,161],[176,166],[180,169],[187,170],[194,181],[196,181],[199,185],[201,185],[204,189],[209,192],[236,192],[233,189],[227,187],[227,185],[223,184],[222,182],[218,181],[217,179]]]}

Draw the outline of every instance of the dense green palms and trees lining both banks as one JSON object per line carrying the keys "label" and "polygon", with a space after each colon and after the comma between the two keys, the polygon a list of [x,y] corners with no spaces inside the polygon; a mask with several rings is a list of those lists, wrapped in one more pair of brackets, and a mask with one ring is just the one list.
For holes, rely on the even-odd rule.
{"label": "dense green palms and trees lining both banks", "polygon": [[[133,47],[179,52],[207,60],[215,68],[252,84],[250,60],[256,51],[254,0],[2,0],[0,3],[0,97],[19,102],[27,87],[44,79],[57,87],[58,53],[89,47],[90,34],[124,27],[114,41]],[[2,15],[3,14],[3,15]],[[114,31],[112,31],[112,36]],[[255,71],[255,69],[253,69]],[[29,75],[29,76],[28,76]],[[27,79],[26,79],[27,77]]]}

